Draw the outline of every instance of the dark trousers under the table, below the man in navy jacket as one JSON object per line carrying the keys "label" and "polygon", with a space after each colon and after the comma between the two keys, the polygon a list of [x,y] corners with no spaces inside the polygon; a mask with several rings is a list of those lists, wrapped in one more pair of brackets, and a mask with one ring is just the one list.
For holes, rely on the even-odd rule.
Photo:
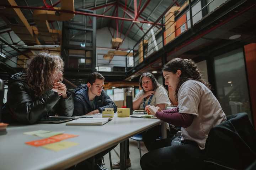
{"label": "dark trousers under the table, below the man in navy jacket", "polygon": [[97,169],[97,164],[101,166],[103,156],[106,155],[110,150],[114,149],[116,146],[113,146],[109,149],[104,150],[101,153],[94,155],[91,158],[88,158],[80,163],[78,163],[74,170],[95,170]]}

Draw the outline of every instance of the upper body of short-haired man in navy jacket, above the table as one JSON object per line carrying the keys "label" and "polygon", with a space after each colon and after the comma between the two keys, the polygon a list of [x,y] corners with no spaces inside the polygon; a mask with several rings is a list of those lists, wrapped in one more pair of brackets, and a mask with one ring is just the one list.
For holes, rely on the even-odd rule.
{"label": "upper body of short-haired man in navy jacket, above the table", "polygon": [[101,73],[94,72],[89,75],[87,84],[75,89],[73,116],[102,113],[105,108],[114,108],[114,112],[117,111],[117,106],[103,90],[104,80]]}

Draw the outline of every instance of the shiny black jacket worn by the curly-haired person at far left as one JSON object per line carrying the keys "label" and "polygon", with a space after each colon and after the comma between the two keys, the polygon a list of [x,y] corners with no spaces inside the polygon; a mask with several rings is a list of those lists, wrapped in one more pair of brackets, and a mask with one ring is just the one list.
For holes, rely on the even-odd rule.
{"label": "shiny black jacket worn by the curly-haired person at far left", "polygon": [[63,99],[57,92],[46,91],[36,97],[26,82],[25,73],[16,73],[9,80],[7,103],[3,106],[2,121],[35,124],[42,117],[72,116],[74,102],[71,93]]}

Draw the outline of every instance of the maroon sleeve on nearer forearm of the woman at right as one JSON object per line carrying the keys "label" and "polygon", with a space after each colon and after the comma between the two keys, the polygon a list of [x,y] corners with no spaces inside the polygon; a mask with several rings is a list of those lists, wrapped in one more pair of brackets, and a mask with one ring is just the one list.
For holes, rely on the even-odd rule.
{"label": "maroon sleeve on nearer forearm of the woman at right", "polygon": [[186,114],[186,113],[178,113],[178,112],[165,113],[163,111],[157,111],[156,117],[158,117],[159,119],[167,123],[170,123],[175,126],[180,126],[180,127],[188,127],[192,124],[194,120],[194,115]]}

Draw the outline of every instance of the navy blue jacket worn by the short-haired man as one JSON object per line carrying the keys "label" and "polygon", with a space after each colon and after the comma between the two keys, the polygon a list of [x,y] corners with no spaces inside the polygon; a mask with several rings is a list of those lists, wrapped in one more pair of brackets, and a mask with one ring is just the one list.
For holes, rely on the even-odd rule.
{"label": "navy blue jacket worn by the short-haired man", "polygon": [[96,96],[95,108],[91,108],[90,100],[88,96],[87,84],[82,84],[74,90],[74,112],[73,116],[85,115],[93,110],[98,109],[100,112],[104,111],[105,108],[114,108],[114,112],[117,111],[117,106],[114,104],[113,100],[102,90],[100,96]]}

